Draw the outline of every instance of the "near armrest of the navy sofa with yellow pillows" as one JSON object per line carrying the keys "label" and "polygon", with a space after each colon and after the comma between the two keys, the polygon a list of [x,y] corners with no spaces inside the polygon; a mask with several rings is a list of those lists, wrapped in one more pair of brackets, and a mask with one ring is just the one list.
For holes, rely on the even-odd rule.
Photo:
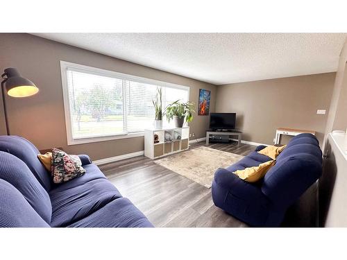
{"label": "near armrest of the navy sofa with yellow pillows", "polygon": [[216,182],[219,187],[228,190],[232,195],[248,202],[269,202],[269,199],[262,193],[259,187],[240,179],[235,173],[225,168],[217,169],[216,173],[214,173],[214,182]]}

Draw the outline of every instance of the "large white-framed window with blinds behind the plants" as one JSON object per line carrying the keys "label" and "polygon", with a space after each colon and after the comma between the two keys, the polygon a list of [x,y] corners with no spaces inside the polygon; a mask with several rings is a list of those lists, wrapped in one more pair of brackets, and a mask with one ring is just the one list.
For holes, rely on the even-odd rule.
{"label": "large white-framed window with blinds behind the plants", "polygon": [[143,135],[155,119],[158,87],[163,107],[189,100],[189,87],[69,62],[60,67],[68,144]]}

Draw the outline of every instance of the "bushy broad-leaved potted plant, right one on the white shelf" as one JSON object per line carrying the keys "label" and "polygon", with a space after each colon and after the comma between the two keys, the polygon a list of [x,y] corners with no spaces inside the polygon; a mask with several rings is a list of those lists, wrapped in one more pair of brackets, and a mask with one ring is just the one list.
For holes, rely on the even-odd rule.
{"label": "bushy broad-leaved potted plant, right one on the white shelf", "polygon": [[187,123],[192,122],[194,112],[194,103],[192,102],[180,103],[176,101],[168,105],[166,109],[167,120],[174,119],[176,128],[182,128],[185,121]]}

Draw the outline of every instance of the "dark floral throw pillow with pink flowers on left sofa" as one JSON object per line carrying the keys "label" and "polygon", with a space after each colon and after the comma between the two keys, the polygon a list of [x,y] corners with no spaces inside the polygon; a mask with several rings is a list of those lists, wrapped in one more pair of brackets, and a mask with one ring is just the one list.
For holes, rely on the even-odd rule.
{"label": "dark floral throw pillow with pink flowers on left sofa", "polygon": [[51,175],[54,183],[67,182],[83,174],[85,169],[77,155],[68,155],[57,148],[52,149]]}

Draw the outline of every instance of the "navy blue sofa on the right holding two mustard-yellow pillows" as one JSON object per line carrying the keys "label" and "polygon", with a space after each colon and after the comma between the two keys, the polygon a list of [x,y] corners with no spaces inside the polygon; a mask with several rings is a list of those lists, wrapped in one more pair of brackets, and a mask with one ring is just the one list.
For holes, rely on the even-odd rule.
{"label": "navy blue sofa on the right holding two mustard-yellow pillows", "polygon": [[232,173],[269,161],[270,157],[257,153],[264,147],[258,146],[228,168],[219,168],[212,182],[212,198],[214,205],[248,225],[277,227],[288,207],[321,176],[322,152],[314,135],[301,134],[289,141],[260,182],[245,182]]}

